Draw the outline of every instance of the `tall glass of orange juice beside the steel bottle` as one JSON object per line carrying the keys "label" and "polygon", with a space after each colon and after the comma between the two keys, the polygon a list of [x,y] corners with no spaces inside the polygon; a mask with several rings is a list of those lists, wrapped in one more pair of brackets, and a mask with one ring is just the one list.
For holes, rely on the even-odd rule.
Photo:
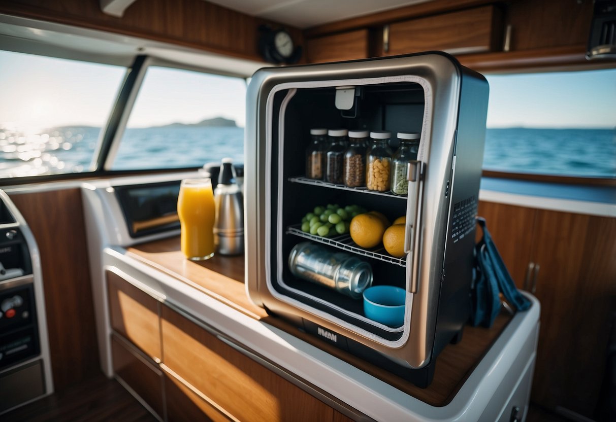
{"label": "tall glass of orange juice beside the steel bottle", "polygon": [[184,179],[177,198],[180,217],[180,244],[192,261],[214,256],[214,191],[209,178]]}

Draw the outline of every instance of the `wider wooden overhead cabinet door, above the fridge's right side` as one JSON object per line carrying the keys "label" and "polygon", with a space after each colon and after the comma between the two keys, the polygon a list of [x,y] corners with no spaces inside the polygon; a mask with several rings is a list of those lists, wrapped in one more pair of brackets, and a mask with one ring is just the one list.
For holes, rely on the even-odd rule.
{"label": "wider wooden overhead cabinet door, above the fridge's right side", "polygon": [[492,51],[500,48],[500,17],[500,10],[496,7],[484,6],[392,23],[389,25],[389,51],[386,54],[427,50],[444,50],[452,54]]}

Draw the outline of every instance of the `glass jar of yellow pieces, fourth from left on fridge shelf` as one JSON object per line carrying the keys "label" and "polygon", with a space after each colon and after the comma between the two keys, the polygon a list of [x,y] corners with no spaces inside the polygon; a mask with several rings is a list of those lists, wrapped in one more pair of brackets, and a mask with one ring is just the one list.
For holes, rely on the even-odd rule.
{"label": "glass jar of yellow pieces, fourth from left on fridge shelf", "polygon": [[366,187],[370,191],[389,191],[392,151],[391,133],[387,130],[370,132],[371,146],[366,156]]}

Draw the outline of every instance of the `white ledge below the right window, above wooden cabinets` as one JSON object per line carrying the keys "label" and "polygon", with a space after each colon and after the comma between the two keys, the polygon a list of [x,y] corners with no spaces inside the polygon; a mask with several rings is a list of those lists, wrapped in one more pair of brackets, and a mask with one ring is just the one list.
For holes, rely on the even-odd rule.
{"label": "white ledge below the right window, above wooden cabinets", "polygon": [[520,207],[598,215],[599,217],[616,217],[616,205],[606,204],[605,202],[575,201],[573,199],[520,195],[500,191],[489,191],[487,189],[479,190],[479,200],[518,205]]}

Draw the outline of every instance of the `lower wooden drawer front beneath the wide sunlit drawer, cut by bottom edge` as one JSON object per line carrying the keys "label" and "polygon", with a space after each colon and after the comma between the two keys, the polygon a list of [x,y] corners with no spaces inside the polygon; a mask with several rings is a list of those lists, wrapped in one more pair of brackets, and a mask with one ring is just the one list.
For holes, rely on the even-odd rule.
{"label": "lower wooden drawer front beneath the wide sunlit drawer, cut by bottom edge", "polygon": [[167,400],[168,422],[227,422],[233,420],[188,388],[186,384],[166,370],[164,365],[162,369],[165,375],[164,394]]}

